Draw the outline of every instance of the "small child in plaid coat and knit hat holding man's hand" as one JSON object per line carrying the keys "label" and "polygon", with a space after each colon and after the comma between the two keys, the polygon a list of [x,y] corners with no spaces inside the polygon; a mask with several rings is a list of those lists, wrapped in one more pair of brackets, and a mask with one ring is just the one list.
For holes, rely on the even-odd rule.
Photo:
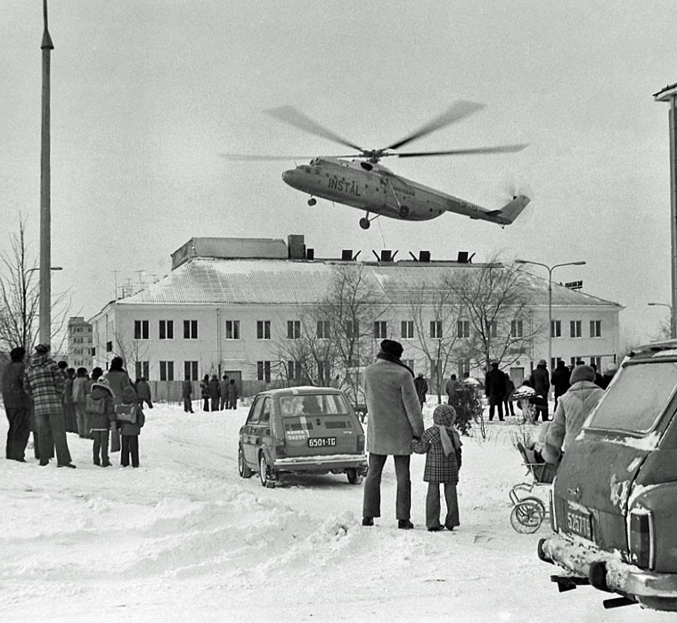
{"label": "small child in plaid coat and knit hat holding man's hand", "polygon": [[[412,449],[426,456],[423,480],[428,482],[426,498],[426,526],[429,532],[453,530],[459,522],[459,503],[456,485],[461,468],[461,437],[453,429],[456,411],[451,405],[438,405],[433,412],[433,426],[426,429],[420,440],[412,442]],[[439,486],[445,489],[446,517],[444,526],[439,521]]]}

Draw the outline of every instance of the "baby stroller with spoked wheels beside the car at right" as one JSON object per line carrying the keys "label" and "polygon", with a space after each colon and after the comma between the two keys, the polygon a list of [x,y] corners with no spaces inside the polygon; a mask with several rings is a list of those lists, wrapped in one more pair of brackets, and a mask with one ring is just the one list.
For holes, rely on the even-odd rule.
{"label": "baby stroller with spoked wheels beside the car at right", "polygon": [[543,463],[532,448],[522,441],[516,441],[515,447],[524,459],[524,465],[532,476],[531,482],[519,482],[510,490],[510,525],[521,534],[532,534],[541,527],[543,520],[550,518],[550,511],[542,498],[534,495],[534,490],[550,486],[555,479],[557,466]]}

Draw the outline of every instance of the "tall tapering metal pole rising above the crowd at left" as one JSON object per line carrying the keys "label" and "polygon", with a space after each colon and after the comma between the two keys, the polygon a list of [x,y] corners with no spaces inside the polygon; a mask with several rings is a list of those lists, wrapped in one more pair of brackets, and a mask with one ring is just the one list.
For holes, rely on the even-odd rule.
{"label": "tall tapering metal pole rising above the crowd at left", "polygon": [[47,28],[47,0],[43,0],[45,28],[42,49],[42,133],[40,143],[40,343],[52,341],[52,273],[50,214],[50,54],[54,49]]}

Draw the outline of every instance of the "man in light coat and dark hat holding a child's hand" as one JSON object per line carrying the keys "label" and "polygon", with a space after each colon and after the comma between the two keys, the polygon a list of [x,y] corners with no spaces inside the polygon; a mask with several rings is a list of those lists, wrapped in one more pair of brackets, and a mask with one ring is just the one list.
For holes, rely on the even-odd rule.
{"label": "man in light coat and dark hat holding a child's hand", "polygon": [[364,370],[364,393],[369,413],[369,470],[364,481],[363,526],[372,526],[373,518],[380,517],[381,473],[387,456],[393,455],[397,479],[397,527],[413,528],[409,462],[412,440],[420,439],[423,434],[423,417],[413,372],[400,360],[403,350],[402,344],[383,340],[376,362]]}

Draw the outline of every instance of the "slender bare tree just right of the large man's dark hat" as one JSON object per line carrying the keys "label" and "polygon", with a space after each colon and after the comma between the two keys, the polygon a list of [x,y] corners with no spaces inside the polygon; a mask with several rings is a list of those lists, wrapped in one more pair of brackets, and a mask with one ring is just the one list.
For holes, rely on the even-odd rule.
{"label": "slender bare tree just right of the large man's dark hat", "polygon": [[417,338],[414,348],[428,360],[430,380],[439,404],[458,339],[459,305],[446,279],[435,284],[422,283],[409,295],[407,305]]}

